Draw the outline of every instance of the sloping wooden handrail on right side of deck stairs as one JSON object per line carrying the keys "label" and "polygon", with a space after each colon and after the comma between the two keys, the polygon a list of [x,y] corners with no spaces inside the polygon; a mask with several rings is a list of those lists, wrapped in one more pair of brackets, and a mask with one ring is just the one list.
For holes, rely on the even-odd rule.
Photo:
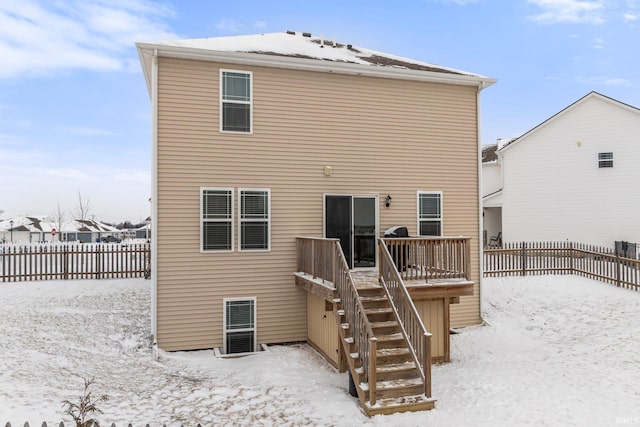
{"label": "sloping wooden handrail on right side of deck stairs", "polygon": [[431,397],[431,333],[424,326],[384,239],[378,239],[378,249],[380,284],[387,293],[402,334],[409,343],[411,356],[422,377],[424,394]]}

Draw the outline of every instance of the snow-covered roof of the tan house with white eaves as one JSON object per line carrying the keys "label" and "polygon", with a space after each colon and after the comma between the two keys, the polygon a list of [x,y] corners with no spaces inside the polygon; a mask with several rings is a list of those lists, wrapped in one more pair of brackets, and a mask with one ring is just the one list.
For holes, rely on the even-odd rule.
{"label": "snow-covered roof of the tan house with white eaves", "polygon": [[153,56],[217,60],[280,68],[306,69],[377,77],[446,81],[480,86],[494,79],[395,56],[375,50],[333,42],[309,33],[287,31],[232,37],[136,43],[151,92]]}

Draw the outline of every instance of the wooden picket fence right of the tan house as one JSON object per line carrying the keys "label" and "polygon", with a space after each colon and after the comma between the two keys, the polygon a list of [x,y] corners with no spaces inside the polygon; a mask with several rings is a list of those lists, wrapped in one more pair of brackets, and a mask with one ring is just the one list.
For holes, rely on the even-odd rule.
{"label": "wooden picket fence right of the tan house", "polygon": [[640,260],[574,242],[507,242],[483,251],[484,276],[577,274],[640,291]]}

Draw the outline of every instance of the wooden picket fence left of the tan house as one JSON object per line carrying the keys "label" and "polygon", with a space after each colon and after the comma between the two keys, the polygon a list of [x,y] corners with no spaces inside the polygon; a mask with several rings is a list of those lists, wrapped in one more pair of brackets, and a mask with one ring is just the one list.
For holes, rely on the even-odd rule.
{"label": "wooden picket fence left of the tan house", "polygon": [[146,277],[148,243],[0,246],[0,282]]}

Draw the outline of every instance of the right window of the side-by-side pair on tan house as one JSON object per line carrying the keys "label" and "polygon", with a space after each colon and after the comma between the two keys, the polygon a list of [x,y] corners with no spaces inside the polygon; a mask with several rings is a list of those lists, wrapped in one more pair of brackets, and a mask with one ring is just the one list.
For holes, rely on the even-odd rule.
{"label": "right window of the side-by-side pair on tan house", "polygon": [[240,250],[269,250],[270,191],[240,189]]}

